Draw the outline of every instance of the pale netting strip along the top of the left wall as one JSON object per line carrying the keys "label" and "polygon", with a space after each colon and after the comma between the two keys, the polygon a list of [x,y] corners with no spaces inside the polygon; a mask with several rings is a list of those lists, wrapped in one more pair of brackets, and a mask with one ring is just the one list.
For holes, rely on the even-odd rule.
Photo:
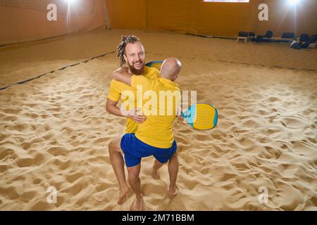
{"label": "pale netting strip along the top of the left wall", "polygon": [[[76,0],[70,1],[70,12],[76,15],[91,15],[94,11],[95,0]],[[24,8],[35,11],[47,12],[47,5],[56,4],[57,14],[67,15],[67,0],[0,0],[0,6],[8,6],[12,8]]]}

